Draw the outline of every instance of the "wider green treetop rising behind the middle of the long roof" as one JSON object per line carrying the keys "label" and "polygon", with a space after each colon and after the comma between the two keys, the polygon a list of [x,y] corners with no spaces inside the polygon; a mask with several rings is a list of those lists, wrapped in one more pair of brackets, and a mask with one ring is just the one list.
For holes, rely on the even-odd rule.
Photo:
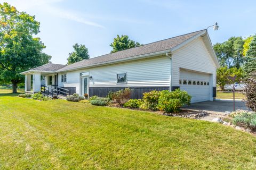
{"label": "wider green treetop rising behind the middle of the long roof", "polygon": [[131,40],[127,35],[122,35],[121,37],[119,35],[114,38],[113,43],[110,44],[110,46],[113,48],[111,50],[111,53],[119,52],[121,50],[138,47],[142,44],[135,42]]}

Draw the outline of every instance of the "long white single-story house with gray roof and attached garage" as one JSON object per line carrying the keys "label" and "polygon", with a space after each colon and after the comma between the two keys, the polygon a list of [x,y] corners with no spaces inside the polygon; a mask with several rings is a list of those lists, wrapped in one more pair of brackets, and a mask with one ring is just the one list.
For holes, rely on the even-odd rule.
{"label": "long white single-story house with gray roof and attached garage", "polygon": [[196,103],[215,99],[218,67],[207,30],[201,30],[70,65],[49,63],[21,74],[26,75],[26,92],[105,97],[110,90],[129,87],[132,98],[141,98],[143,92],[180,88]]}

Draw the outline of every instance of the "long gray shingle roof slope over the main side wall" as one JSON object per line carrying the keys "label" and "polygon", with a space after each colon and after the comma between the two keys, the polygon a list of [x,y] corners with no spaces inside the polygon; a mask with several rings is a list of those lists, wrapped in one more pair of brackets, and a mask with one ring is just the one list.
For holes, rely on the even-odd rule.
{"label": "long gray shingle roof slope over the main side wall", "polygon": [[94,57],[89,60],[83,60],[74,64],[67,65],[66,67],[59,69],[58,72],[79,69],[79,68],[88,67],[94,64],[100,64],[105,62],[111,62],[111,61],[114,62],[115,60],[121,60],[123,58],[162,52],[164,50],[172,49],[173,47],[180,45],[184,41],[204,31],[205,30],[191,32],[191,33],[187,33],[186,35],[181,35],[181,36],[172,37],[172,38],[161,40],[161,41],[156,41],[155,43],[150,43],[150,44],[142,45],[139,47],[122,50],[120,52],[102,55],[99,57]]}

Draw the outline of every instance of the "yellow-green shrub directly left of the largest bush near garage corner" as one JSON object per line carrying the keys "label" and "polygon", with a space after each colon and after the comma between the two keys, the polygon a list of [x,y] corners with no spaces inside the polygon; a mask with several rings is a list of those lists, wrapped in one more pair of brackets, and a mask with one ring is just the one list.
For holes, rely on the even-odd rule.
{"label": "yellow-green shrub directly left of the largest bush near garage corner", "polygon": [[145,104],[143,104],[141,108],[156,111],[159,96],[160,92],[156,90],[143,93],[143,100],[145,101]]}

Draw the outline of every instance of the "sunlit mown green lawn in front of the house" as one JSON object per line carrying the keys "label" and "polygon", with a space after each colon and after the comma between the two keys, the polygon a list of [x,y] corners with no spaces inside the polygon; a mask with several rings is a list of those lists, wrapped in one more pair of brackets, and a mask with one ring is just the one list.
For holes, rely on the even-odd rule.
{"label": "sunlit mown green lawn in front of the house", "polygon": [[227,126],[0,92],[0,169],[256,166],[256,137]]}

